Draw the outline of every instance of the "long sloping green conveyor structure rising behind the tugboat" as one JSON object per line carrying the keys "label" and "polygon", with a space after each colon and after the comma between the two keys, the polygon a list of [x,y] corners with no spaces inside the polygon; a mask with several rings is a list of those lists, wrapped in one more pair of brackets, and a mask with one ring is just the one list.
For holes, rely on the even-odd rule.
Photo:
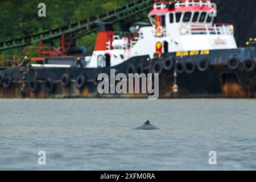
{"label": "long sloping green conveyor structure rising behind the tugboat", "polygon": [[35,43],[44,42],[46,40],[61,38],[61,36],[68,34],[71,34],[69,39],[75,40],[94,31],[97,31],[97,26],[94,24],[96,20],[102,22],[117,23],[150,9],[152,7],[152,2],[152,0],[137,0],[128,3],[126,6],[122,6],[117,10],[106,12],[102,15],[93,16],[91,18],[69,24],[65,27],[56,28],[54,30],[49,30],[24,38],[0,42],[0,51],[26,47]]}

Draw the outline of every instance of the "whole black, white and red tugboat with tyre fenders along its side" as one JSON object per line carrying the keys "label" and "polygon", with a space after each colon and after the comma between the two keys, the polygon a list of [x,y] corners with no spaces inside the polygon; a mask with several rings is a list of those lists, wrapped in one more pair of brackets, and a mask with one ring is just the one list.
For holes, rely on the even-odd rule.
{"label": "whole black, white and red tugboat with tyre fenders along its side", "polygon": [[99,94],[98,75],[110,76],[114,69],[116,74],[159,74],[160,98],[253,98],[255,44],[238,48],[234,27],[213,23],[215,12],[209,0],[155,1],[150,23],[137,23],[122,38],[112,24],[96,21],[91,56],[25,56],[18,68],[0,71],[0,97],[148,96]]}

